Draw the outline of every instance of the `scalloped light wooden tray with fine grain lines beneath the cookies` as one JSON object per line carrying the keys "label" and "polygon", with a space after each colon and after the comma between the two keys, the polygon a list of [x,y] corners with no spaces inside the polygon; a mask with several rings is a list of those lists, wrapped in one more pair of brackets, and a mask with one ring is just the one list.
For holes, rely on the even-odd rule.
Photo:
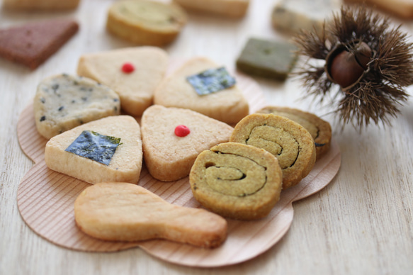
{"label": "scalloped light wooden tray with fine grain lines beneath the cookies", "polygon": [[[249,77],[237,82],[250,103],[251,111],[265,105],[258,84]],[[50,242],[88,252],[115,252],[140,247],[152,256],[186,266],[225,266],[237,264],[265,252],[283,237],[293,221],[293,201],[310,196],[327,186],[339,171],[341,155],[336,142],[319,159],[312,172],[300,184],[281,193],[281,201],[264,219],[228,220],[228,237],[216,249],[203,249],[166,240],[145,242],[106,242],[81,232],[74,222],[74,200],[90,184],[47,168],[44,159],[47,140],[35,128],[33,106],[28,106],[18,120],[18,141],[35,165],[18,187],[18,209],[23,220],[38,235]],[[193,198],[188,177],[174,182],[153,179],[143,167],[138,183],[179,206],[201,207]]]}

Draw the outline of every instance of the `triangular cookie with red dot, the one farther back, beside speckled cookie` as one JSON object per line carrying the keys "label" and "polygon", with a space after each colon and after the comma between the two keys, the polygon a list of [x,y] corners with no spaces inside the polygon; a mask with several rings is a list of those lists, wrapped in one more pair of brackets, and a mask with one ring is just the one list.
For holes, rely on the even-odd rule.
{"label": "triangular cookie with red dot, the one farther back, beside speckled cookie", "polygon": [[128,47],[82,55],[77,74],[110,86],[123,111],[142,116],[167,67],[168,55],[159,47]]}

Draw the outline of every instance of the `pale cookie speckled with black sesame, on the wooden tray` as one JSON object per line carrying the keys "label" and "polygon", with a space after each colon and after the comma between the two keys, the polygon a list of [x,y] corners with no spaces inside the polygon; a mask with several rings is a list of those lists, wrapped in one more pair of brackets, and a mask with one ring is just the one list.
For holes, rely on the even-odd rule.
{"label": "pale cookie speckled with black sesame, on the wooden tray", "polygon": [[49,139],[83,123],[120,113],[118,94],[92,79],[58,74],[43,79],[33,101],[36,128]]}

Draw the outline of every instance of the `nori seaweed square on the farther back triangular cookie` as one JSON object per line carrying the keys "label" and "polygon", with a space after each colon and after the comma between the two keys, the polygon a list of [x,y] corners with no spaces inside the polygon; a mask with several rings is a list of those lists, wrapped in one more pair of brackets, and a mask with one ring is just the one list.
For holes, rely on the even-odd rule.
{"label": "nori seaweed square on the farther back triangular cookie", "polygon": [[199,74],[186,77],[186,80],[200,96],[230,88],[235,84],[235,79],[228,74],[225,67],[207,69]]}

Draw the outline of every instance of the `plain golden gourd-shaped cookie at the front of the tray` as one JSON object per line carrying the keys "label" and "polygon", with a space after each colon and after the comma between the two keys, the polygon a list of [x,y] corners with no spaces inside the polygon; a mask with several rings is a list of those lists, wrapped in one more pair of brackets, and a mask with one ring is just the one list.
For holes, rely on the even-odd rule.
{"label": "plain golden gourd-shaped cookie at the front of the tray", "polygon": [[102,240],[166,239],[213,248],[225,241],[227,221],[200,208],[175,206],[135,184],[89,186],[74,202],[74,218],[86,234]]}

